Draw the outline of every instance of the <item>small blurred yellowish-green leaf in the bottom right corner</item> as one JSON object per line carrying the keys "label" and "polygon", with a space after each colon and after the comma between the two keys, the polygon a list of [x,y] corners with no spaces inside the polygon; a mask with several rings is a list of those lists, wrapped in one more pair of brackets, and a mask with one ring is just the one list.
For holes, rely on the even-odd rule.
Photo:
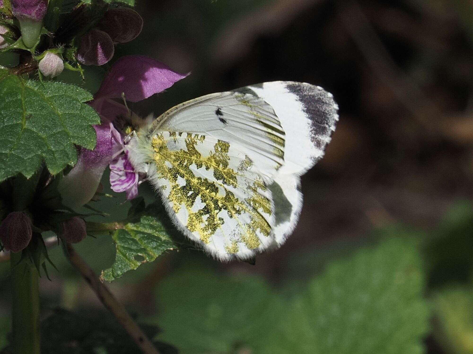
{"label": "small blurred yellowish-green leaf in the bottom right corner", "polygon": [[434,335],[451,354],[473,353],[473,288],[448,287],[433,297]]}

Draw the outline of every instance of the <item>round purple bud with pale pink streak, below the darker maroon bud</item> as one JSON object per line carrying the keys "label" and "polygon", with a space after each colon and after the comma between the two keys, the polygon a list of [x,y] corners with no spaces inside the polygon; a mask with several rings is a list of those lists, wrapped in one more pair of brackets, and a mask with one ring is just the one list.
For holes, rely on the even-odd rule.
{"label": "round purple bud with pale pink streak, below the darker maroon bud", "polygon": [[93,29],[80,39],[77,60],[85,65],[104,65],[114,56],[114,42],[108,34]]}

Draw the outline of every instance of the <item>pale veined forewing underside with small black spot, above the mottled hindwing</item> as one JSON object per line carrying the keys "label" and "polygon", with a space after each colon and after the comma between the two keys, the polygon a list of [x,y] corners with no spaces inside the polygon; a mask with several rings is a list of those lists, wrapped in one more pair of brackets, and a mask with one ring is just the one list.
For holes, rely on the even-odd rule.
{"label": "pale veined forewing underside with small black spot, above the mottled hindwing", "polygon": [[272,107],[238,92],[209,94],[181,103],[161,115],[153,130],[192,132],[238,144],[265,181],[284,164],[284,131]]}

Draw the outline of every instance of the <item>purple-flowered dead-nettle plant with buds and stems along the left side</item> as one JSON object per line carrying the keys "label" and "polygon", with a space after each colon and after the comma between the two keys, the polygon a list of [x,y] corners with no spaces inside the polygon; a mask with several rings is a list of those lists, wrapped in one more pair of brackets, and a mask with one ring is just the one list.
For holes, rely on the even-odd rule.
{"label": "purple-flowered dead-nettle plant with buds and stems along the left side", "polygon": [[[131,222],[115,222],[110,229],[88,219],[105,215],[92,203],[108,196],[100,185],[107,167],[115,192],[124,192],[127,200],[138,195],[143,176],[128,159],[130,133],[122,123],[140,118],[123,98],[141,101],[185,77],[135,55],[111,66],[95,97],[62,82],[64,70],[76,72],[76,82],[85,80],[87,66],[109,63],[117,45],[140,34],[143,20],[131,8],[133,1],[127,3],[0,0],[0,54],[7,54],[0,56],[0,260],[10,258],[12,265],[15,354],[39,353],[37,278],[47,275],[47,262],[52,264],[48,248],[62,244],[77,266],[71,244]],[[12,57],[18,65],[2,62]],[[165,249],[174,246],[166,242]],[[118,309],[119,319],[127,318],[123,326],[136,345],[153,352],[145,334],[130,325],[131,317],[113,298],[107,299],[106,307]]]}

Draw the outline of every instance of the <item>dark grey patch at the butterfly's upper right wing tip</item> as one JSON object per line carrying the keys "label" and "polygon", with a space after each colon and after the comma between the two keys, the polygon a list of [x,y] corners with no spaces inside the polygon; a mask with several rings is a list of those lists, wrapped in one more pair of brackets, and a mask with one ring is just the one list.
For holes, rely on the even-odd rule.
{"label": "dark grey patch at the butterfly's upper right wing tip", "polygon": [[298,82],[288,82],[286,88],[296,95],[311,122],[311,141],[318,149],[324,150],[339,119],[338,105],[333,100],[333,94],[320,86]]}

